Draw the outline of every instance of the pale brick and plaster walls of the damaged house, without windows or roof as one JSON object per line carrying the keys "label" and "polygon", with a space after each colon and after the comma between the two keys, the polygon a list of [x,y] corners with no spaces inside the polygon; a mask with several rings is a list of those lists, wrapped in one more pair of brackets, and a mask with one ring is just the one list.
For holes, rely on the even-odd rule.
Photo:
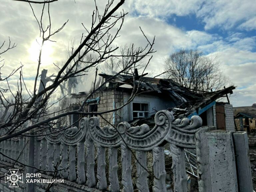
{"label": "pale brick and plaster walls of the damaged house, without windows or roof", "polygon": [[[98,112],[116,109],[125,104],[130,98],[130,93],[117,91],[114,89],[98,92],[92,98],[99,97],[100,99],[88,104],[97,103]],[[86,96],[76,98],[65,98],[62,101],[62,108],[72,106],[76,103],[82,103]],[[157,111],[175,107],[175,103],[171,99],[163,98],[163,96],[141,94],[136,96],[132,102],[141,102],[149,104],[149,116],[154,115]],[[132,120],[132,102],[125,105],[122,109],[102,114],[111,124],[117,126],[120,122]],[[88,106],[85,106],[85,111],[88,111]],[[70,109],[69,109],[70,110]],[[230,104],[225,104],[225,125],[227,131],[235,131],[233,107]],[[67,122],[70,122],[69,116],[65,117]],[[207,110],[207,124],[208,126],[216,126],[216,106]],[[103,118],[100,118],[100,126],[108,125]]]}

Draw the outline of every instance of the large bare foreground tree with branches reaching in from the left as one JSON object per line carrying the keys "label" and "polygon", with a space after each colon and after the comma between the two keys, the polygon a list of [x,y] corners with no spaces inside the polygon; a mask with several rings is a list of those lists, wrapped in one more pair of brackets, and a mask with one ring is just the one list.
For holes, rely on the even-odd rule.
{"label": "large bare foreground tree with branches reaching in from the left", "polygon": [[[51,23],[50,17],[50,3],[53,1],[48,0],[42,3],[42,12],[39,14],[39,17],[36,16],[36,13],[34,12],[32,6],[33,3],[36,2],[26,2],[29,3],[32,9],[32,13],[38,24],[40,37],[42,38],[41,42],[39,42],[41,47],[46,41],[54,41],[52,37],[59,33],[66,26],[68,21],[66,21],[63,25],[57,28],[57,30],[53,31],[53,24]],[[73,46],[72,51],[70,52],[70,56],[68,57],[66,62],[64,62],[60,66],[56,65],[56,67],[58,68],[58,72],[56,75],[52,74],[47,76],[47,70],[43,70],[40,76],[41,79],[39,81],[38,78],[40,75],[40,71],[42,70],[41,55],[43,51],[42,49],[40,49],[33,90],[30,91],[26,87],[26,84],[23,80],[22,66],[16,71],[13,71],[10,75],[6,75],[5,78],[1,79],[2,81],[5,81],[5,84],[8,86],[8,78],[10,78],[15,72],[20,71],[18,86],[15,94],[10,89],[10,87],[8,87],[7,89],[1,88],[0,90],[1,107],[4,108],[4,111],[7,111],[6,113],[4,112],[6,115],[2,117],[0,121],[0,142],[19,135],[38,135],[42,133],[42,130],[49,128],[54,129],[56,124],[59,124],[59,121],[61,121],[61,117],[67,115],[94,114],[94,112],[89,113],[84,111],[86,101],[91,98],[96,91],[101,90],[104,84],[111,81],[111,78],[105,81],[105,83],[100,85],[99,87],[94,87],[93,91],[85,98],[80,108],[77,110],[58,111],[58,115],[54,116],[54,112],[49,112],[49,107],[51,107],[52,105],[52,103],[49,104],[49,99],[50,97],[54,97],[54,94],[56,94],[56,91],[61,87],[63,83],[71,78],[86,76],[88,74],[88,71],[91,69],[96,69],[96,81],[97,66],[101,63],[104,63],[107,59],[113,57],[131,58],[127,61],[126,66],[116,74],[118,75],[131,68],[131,66],[136,66],[146,56],[154,52],[154,39],[150,42],[141,30],[143,36],[148,42],[148,45],[146,45],[144,48],[139,47],[136,50],[132,45],[130,49],[134,51],[120,52],[120,54],[116,54],[116,51],[119,49],[119,47],[113,45],[113,42],[118,37],[118,33],[123,25],[125,15],[127,14],[123,11],[117,14],[116,11],[119,9],[120,6],[122,6],[124,2],[125,0],[120,0],[119,2],[114,4],[113,0],[108,1],[102,14],[99,13],[98,7],[95,2],[95,10],[92,14],[91,26],[90,28],[87,28],[83,25],[85,32],[81,36],[79,45],[77,47]],[[44,20],[45,17],[47,17],[46,20]],[[45,24],[45,22],[48,23]],[[117,30],[113,32],[115,28],[117,28]],[[15,47],[15,44],[13,47]],[[12,46],[8,47],[8,49],[11,48]],[[149,58],[148,62],[150,61],[151,57]],[[146,64],[146,66],[147,65],[148,63]],[[28,98],[24,97],[24,92],[26,93],[26,95],[28,95]],[[133,94],[131,95],[127,103],[131,102],[137,92],[138,91],[136,91],[136,88],[134,87]],[[11,95],[11,97],[7,98],[7,94]],[[127,103],[125,103],[124,105],[126,105]],[[11,110],[10,106],[12,106]],[[110,113],[112,111],[119,110],[122,107],[123,106],[120,106],[117,109],[108,110],[105,112],[97,112],[95,114],[101,116],[104,113]]]}

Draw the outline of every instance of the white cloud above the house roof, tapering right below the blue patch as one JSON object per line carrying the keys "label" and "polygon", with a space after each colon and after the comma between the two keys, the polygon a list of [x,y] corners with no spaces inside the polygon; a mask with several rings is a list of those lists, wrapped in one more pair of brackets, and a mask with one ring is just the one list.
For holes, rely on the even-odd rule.
{"label": "white cloud above the house roof, tapering right below the blue patch", "polygon": [[139,26],[149,39],[152,40],[155,36],[156,53],[153,54],[149,68],[163,65],[163,58],[180,48],[196,49],[199,45],[207,45],[220,38],[217,34],[212,35],[204,31],[184,31],[158,18],[128,16],[120,32],[121,37],[116,41],[117,45],[133,42],[134,46],[145,46],[147,41]]}

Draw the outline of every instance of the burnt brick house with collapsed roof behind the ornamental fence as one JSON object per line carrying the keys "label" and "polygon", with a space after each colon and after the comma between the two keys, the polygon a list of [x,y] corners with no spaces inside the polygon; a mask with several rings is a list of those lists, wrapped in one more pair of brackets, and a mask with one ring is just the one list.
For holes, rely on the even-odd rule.
{"label": "burnt brick house with collapsed roof behind the ornamental fence", "polygon": [[[167,109],[173,111],[175,118],[190,119],[193,115],[199,115],[203,119],[203,126],[216,126],[217,129],[235,131],[232,105],[216,102],[219,98],[232,94],[234,86],[214,92],[195,92],[170,79],[151,78],[138,74],[135,76],[99,74],[99,76],[101,78],[96,87],[106,80],[108,83],[86,101],[85,111],[103,112],[124,105],[117,111],[102,115],[113,125],[123,121],[131,125],[143,123],[154,125],[155,113]],[[130,101],[131,95],[133,99]],[[63,99],[60,105],[70,110],[79,109],[79,104],[87,96],[88,93],[85,92],[71,94],[70,97]],[[66,121],[78,127],[79,118],[79,115],[70,115]],[[107,124],[100,118],[101,127]]]}

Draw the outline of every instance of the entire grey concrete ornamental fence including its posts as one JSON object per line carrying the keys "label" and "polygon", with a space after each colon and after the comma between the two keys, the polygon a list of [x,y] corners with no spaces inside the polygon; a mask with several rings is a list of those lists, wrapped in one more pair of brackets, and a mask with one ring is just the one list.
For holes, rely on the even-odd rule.
{"label": "entire grey concrete ornamental fence including its posts", "polygon": [[[202,119],[199,116],[193,116],[191,122],[187,118],[174,120],[171,112],[166,110],[155,115],[155,124],[150,130],[146,124],[131,127],[123,122],[117,127],[118,133],[113,127],[105,126],[101,129],[97,117],[83,118],[79,128],[72,127],[56,133],[51,133],[48,129],[41,136],[18,137],[1,142],[0,151],[12,159],[18,159],[18,162],[0,155],[0,164],[15,164],[14,167],[24,174],[24,182],[20,182],[19,187],[10,188],[8,182],[1,181],[0,191],[45,191],[49,183],[38,181],[55,179],[58,183],[54,183],[50,191],[132,192],[132,149],[139,161],[136,162],[138,191],[149,191],[148,172],[145,168],[147,151],[152,151],[155,176],[153,191],[165,192],[167,188],[163,145],[169,143],[173,160],[174,192],[187,192],[184,148],[196,149],[200,192],[253,192],[245,132],[232,133],[216,131],[215,127],[201,127]],[[105,162],[106,148],[108,170]],[[122,156],[123,189],[120,189],[118,180],[118,148],[121,149]],[[22,163],[31,167],[24,167]],[[62,170],[53,176],[54,167],[59,163],[58,168]],[[4,167],[0,171],[9,173]],[[26,178],[31,173],[34,178]],[[33,182],[26,183],[30,179]]]}

